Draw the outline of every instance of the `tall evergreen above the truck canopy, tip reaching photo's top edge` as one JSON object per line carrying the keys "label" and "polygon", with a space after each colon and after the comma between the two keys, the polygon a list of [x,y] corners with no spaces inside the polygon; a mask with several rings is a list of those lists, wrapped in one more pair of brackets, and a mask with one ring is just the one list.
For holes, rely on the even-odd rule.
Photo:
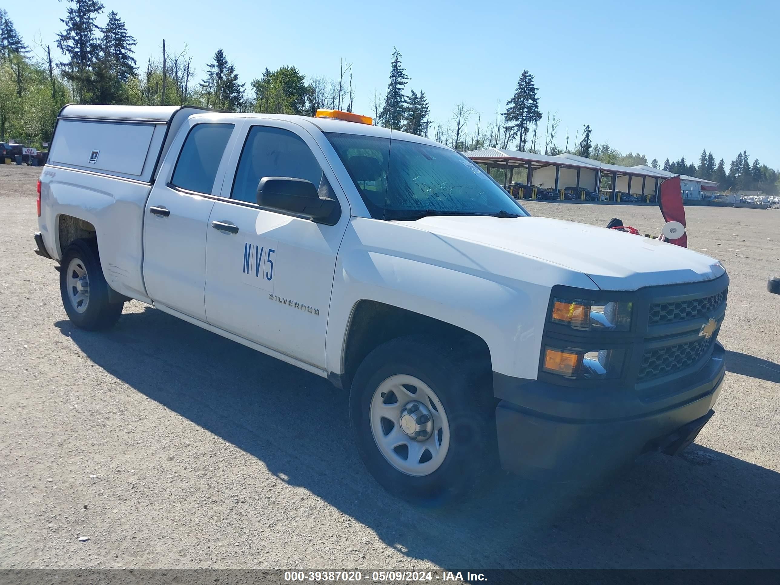
{"label": "tall evergreen above the truck canopy, tip reaching photo's top edge", "polygon": [[92,66],[98,55],[97,24],[95,18],[103,11],[103,5],[97,0],[67,0],[73,4],[68,7],[66,18],[60,19],[65,30],[57,34],[57,47],[66,62],[60,63],[65,77],[74,84],[76,99],[83,101],[84,88],[93,76]]}

